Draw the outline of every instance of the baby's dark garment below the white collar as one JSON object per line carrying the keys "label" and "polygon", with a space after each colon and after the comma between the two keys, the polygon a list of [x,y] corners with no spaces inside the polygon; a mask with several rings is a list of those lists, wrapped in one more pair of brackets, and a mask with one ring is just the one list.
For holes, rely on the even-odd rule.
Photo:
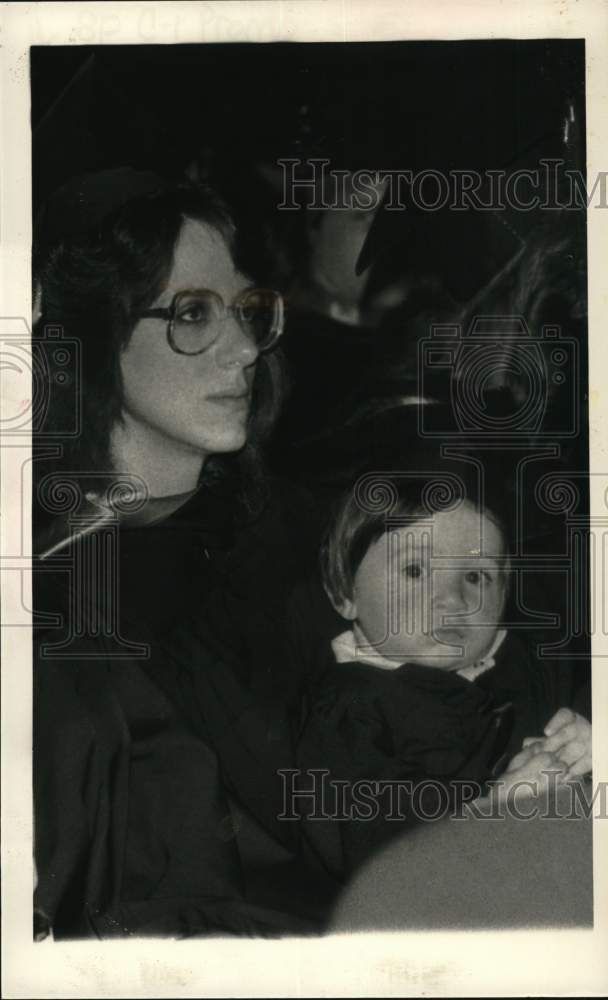
{"label": "baby's dark garment below the white collar", "polygon": [[314,787],[300,811],[311,852],[340,877],[392,835],[482,794],[526,736],[542,735],[561,693],[554,671],[507,633],[474,680],[332,661],[310,699],[298,765],[318,773],[314,785],[299,776],[300,790]]}

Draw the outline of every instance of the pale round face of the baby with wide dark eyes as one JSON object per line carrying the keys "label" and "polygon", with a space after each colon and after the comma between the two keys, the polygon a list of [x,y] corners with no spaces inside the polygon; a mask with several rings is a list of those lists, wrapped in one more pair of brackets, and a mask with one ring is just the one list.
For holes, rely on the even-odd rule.
{"label": "pale round face of the baby with wide dark eyes", "polygon": [[460,670],[488,652],[505,600],[499,528],[469,504],[382,535],[354,582],[352,615],[377,653]]}

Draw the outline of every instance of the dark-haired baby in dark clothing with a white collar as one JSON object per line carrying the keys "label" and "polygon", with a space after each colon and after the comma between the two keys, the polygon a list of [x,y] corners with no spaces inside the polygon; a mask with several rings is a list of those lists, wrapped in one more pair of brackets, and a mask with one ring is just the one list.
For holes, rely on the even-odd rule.
{"label": "dark-haired baby in dark clothing with a white collar", "polygon": [[[499,776],[506,792],[548,768],[561,779],[589,771],[589,722],[556,702],[553,668],[502,624],[509,554],[498,515],[472,495],[433,510],[428,477],[384,485],[388,519],[354,491],[327,533],[325,588],[348,628],[311,692],[300,767],[350,785],[466,781],[479,793]],[[340,871],[386,826],[342,824],[345,858],[330,844],[336,824],[328,834],[316,823],[315,849],[324,854],[325,840]]]}

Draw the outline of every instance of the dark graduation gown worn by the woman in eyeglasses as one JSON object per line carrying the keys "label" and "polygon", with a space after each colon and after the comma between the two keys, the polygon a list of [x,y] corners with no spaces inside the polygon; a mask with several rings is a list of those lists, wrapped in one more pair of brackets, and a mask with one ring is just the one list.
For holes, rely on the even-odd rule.
{"label": "dark graduation gown worn by the woman in eyeglasses", "polygon": [[[160,522],[121,526],[109,597],[104,537],[35,577],[39,620],[64,616],[35,634],[39,935],[315,932],[334,886],[307,874],[297,828],[276,819],[301,683],[286,674],[283,608],[316,552],[312,509],[274,484],[246,516],[202,488]],[[79,621],[70,600],[95,572],[105,607]]]}

